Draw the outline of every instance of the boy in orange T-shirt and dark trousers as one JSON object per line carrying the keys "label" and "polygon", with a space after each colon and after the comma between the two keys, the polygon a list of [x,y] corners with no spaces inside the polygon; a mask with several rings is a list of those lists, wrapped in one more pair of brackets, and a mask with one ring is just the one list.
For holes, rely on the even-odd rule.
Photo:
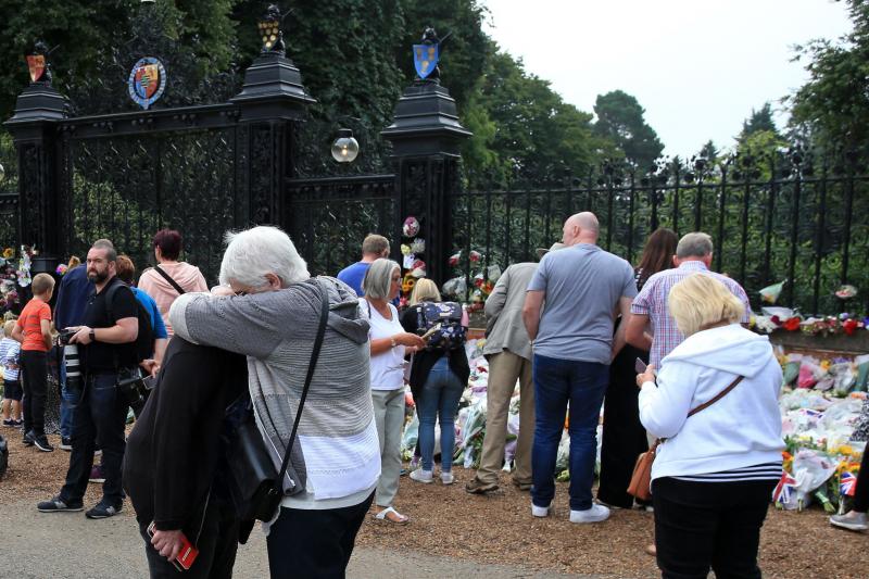
{"label": "boy in orange T-shirt and dark trousers", "polygon": [[24,445],[42,452],[54,446],[46,437],[46,395],[48,394],[48,351],[51,350],[51,307],[54,278],[37,274],[33,281],[34,299],[27,302],[15,323],[12,338],[21,342],[21,378],[24,390]]}

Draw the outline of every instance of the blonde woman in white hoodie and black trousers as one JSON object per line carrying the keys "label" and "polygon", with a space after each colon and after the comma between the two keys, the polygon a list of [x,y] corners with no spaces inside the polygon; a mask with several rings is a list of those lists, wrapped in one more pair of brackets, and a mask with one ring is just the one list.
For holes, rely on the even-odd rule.
{"label": "blonde woman in white hoodie and black trousers", "polygon": [[[766,337],[739,325],[742,303],[696,274],[667,303],[687,336],[637,377],[640,420],[666,439],[652,467],[657,563],[665,578],[760,577],[757,547],[781,478],[781,367]],[[689,412],[722,398],[689,418]]]}

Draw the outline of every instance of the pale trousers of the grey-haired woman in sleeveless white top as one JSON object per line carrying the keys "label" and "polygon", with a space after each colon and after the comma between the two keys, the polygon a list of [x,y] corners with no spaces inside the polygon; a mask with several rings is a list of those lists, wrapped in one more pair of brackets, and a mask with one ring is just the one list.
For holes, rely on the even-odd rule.
{"label": "pale trousers of the grey-haired woman in sleeveless white top", "polygon": [[392,506],[401,477],[401,433],[404,427],[404,389],[371,390],[374,420],[380,441],[380,480],[377,505]]}

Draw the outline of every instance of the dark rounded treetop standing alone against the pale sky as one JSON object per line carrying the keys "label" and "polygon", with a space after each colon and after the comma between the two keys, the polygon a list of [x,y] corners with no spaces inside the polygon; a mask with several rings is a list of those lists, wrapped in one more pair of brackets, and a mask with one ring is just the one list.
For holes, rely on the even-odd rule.
{"label": "dark rounded treetop standing alone against the pale sky", "polygon": [[664,151],[657,134],[643,118],[645,109],[631,95],[622,90],[599,95],[594,114],[594,133],[615,142],[637,166],[651,167]]}

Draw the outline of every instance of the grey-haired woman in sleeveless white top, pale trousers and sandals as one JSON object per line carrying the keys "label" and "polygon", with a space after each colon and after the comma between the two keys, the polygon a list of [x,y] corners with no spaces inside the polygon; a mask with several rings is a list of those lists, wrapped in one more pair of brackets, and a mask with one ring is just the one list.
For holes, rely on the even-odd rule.
{"label": "grey-haired woman in sleeveless white top, pale trousers and sandals", "polygon": [[377,484],[379,520],[404,525],[410,519],[392,505],[401,477],[401,432],[404,426],[404,356],[423,348],[419,336],[404,331],[392,300],[401,288],[401,267],[386,259],[371,263],[362,289],[364,312],[370,323],[371,399],[380,442],[380,480]]}

